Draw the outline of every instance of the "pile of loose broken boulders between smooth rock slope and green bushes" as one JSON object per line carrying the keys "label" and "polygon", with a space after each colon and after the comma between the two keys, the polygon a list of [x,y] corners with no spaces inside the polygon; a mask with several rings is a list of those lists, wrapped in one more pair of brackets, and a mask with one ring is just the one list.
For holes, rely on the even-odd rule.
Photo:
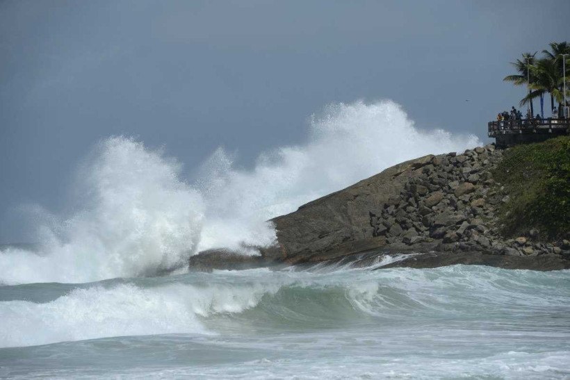
{"label": "pile of loose broken boulders between smooth rock slope and green bushes", "polygon": [[491,171],[503,157],[493,144],[432,156],[414,163],[400,196],[380,210],[371,210],[373,236],[384,236],[388,247],[428,246],[438,251],[483,251],[509,256],[570,254],[565,241],[533,242],[538,231],[503,241],[498,234],[496,208],[508,201],[504,187]]}

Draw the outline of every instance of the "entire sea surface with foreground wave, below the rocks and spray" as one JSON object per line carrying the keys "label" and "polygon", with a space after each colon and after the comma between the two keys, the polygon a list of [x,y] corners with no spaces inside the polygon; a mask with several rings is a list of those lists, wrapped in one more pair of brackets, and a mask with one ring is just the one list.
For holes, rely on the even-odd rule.
{"label": "entire sea surface with foreground wave, below the rocks and spray", "polygon": [[570,271],[217,271],[0,286],[0,378],[561,379]]}

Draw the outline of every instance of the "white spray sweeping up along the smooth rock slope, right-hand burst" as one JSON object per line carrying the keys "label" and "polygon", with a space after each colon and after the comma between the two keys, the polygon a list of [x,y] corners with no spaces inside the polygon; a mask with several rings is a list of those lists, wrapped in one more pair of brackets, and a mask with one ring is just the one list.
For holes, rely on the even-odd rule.
{"label": "white spray sweeping up along the smooth rock slope, right-hand burst", "polygon": [[235,169],[223,149],[206,160],[199,249],[268,245],[275,233],[265,221],[272,217],[404,160],[478,144],[474,135],[416,128],[393,101],[329,105],[312,115],[306,142],[263,152],[252,170]]}

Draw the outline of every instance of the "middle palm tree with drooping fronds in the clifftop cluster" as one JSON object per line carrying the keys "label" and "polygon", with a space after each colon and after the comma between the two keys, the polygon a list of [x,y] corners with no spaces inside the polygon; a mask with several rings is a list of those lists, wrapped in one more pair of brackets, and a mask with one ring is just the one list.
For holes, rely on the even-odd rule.
{"label": "middle palm tree with drooping fronds in the clifftop cluster", "polygon": [[530,83],[531,91],[529,94],[521,100],[521,106],[548,92],[551,95],[551,111],[554,110],[554,100],[562,102],[564,99],[564,94],[560,89],[562,76],[555,61],[550,58],[543,58],[538,60],[530,69],[534,74],[534,81]]}

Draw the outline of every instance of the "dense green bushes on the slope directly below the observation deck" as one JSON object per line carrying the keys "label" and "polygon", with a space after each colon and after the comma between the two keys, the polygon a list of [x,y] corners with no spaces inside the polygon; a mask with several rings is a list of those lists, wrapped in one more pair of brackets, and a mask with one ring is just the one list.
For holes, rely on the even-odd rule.
{"label": "dense green bushes on the slope directly below the observation deck", "polygon": [[507,149],[493,175],[510,198],[499,210],[506,237],[535,228],[555,240],[570,231],[570,136]]}

